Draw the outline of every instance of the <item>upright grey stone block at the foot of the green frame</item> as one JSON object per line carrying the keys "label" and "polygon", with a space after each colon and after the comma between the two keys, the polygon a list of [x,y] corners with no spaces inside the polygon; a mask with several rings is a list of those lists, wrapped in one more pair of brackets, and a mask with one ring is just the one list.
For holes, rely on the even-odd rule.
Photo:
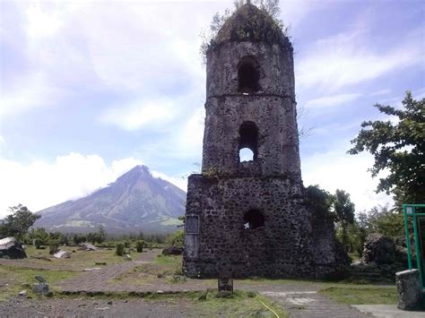
{"label": "upright grey stone block at the foot of the green frame", "polygon": [[399,271],[395,274],[398,304],[402,310],[421,308],[421,283],[419,270]]}

